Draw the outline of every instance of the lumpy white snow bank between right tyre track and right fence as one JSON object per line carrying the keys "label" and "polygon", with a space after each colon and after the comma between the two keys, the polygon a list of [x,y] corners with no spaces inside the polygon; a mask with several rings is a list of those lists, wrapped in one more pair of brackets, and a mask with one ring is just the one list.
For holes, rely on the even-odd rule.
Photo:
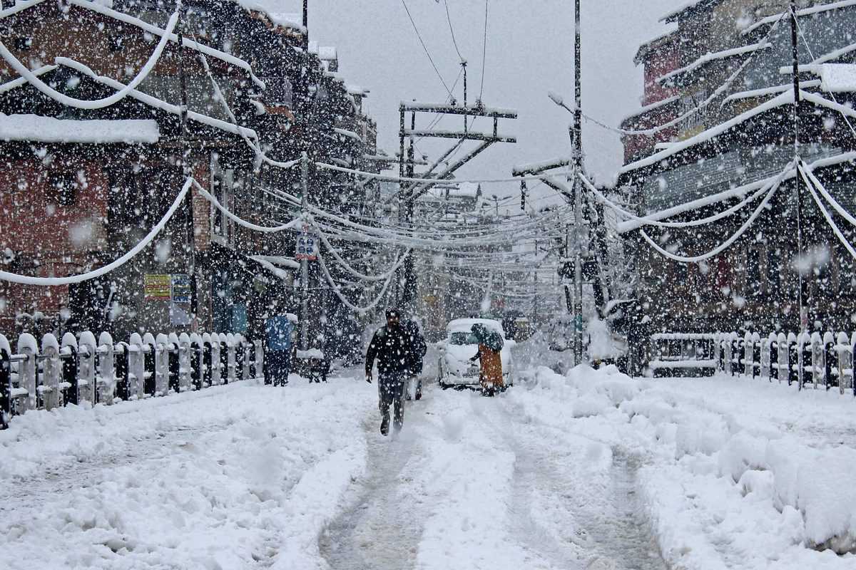
{"label": "lumpy white snow bank between right tyre track and right fence", "polygon": [[852,398],[615,367],[541,368],[531,386],[533,418],[645,457],[640,491],[674,567],[856,567]]}

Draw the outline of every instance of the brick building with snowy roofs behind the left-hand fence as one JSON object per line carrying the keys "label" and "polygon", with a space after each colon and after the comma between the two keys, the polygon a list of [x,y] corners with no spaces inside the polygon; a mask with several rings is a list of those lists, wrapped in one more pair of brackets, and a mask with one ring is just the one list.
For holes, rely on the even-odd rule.
{"label": "brick building with snowy roofs behind the left-hand fence", "polygon": [[[329,62],[304,49],[299,24],[240,3],[185,6],[184,48],[171,36],[146,79],[103,109],[57,103],[61,97],[0,62],[3,270],[64,277],[115,260],[175,201],[186,167],[230,212],[265,226],[299,213],[279,192],[300,194],[299,169],[265,161],[292,160],[305,149],[313,160],[343,156],[348,166],[370,166],[363,156],[377,154],[377,134],[362,113],[366,92],[348,92]],[[139,73],[172,13],[118,0],[112,8],[82,0],[3,8],[3,42],[13,55],[56,91],[84,100],[110,97]],[[329,101],[320,101],[321,91]],[[336,130],[345,127],[362,133],[359,144]],[[314,203],[342,194],[332,178],[312,169]],[[294,234],[252,232],[195,189],[179,206],[146,250],[102,278],[47,288],[0,284],[0,330],[92,328],[117,338],[140,329],[254,332],[271,297],[292,297]],[[164,276],[168,289],[181,292],[153,294],[146,284],[163,284]]]}

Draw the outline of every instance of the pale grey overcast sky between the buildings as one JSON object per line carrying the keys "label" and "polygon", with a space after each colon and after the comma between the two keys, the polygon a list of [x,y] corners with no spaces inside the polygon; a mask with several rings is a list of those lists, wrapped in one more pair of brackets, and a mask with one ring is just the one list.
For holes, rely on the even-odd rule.
{"label": "pale grey overcast sky between the buildings", "polygon": [[[297,12],[299,0],[259,0],[271,11]],[[470,100],[481,85],[484,0],[448,0],[455,37],[469,62]],[[446,20],[444,0],[406,0],[413,20],[447,85],[460,66]],[[633,65],[639,44],[666,31],[657,20],[687,0],[582,0],[583,107],[618,125],[639,109],[642,72]],[[401,0],[309,0],[309,35],[338,48],[340,71],[354,85],[372,91],[367,100],[377,120],[378,144],[389,153],[398,146],[398,103],[417,99],[443,103],[448,94],[419,44]],[[547,91],[573,98],[573,0],[489,0],[484,104],[513,108],[520,119],[503,121],[502,132],[517,144],[495,144],[461,176],[507,177],[515,164],[568,154],[571,115]],[[461,83],[455,95],[461,97]],[[437,128],[461,126],[462,118]],[[419,126],[427,126],[423,122]],[[488,129],[484,120],[484,129]],[[479,121],[473,130],[479,129]],[[621,166],[617,135],[584,125],[586,162],[592,173],[611,179]],[[449,145],[422,141],[417,149],[437,156]],[[469,143],[474,145],[474,143]],[[459,155],[460,156],[460,155]],[[542,187],[543,189],[543,187]],[[514,185],[491,186],[486,193],[508,195]],[[546,196],[546,194],[544,194]]]}

